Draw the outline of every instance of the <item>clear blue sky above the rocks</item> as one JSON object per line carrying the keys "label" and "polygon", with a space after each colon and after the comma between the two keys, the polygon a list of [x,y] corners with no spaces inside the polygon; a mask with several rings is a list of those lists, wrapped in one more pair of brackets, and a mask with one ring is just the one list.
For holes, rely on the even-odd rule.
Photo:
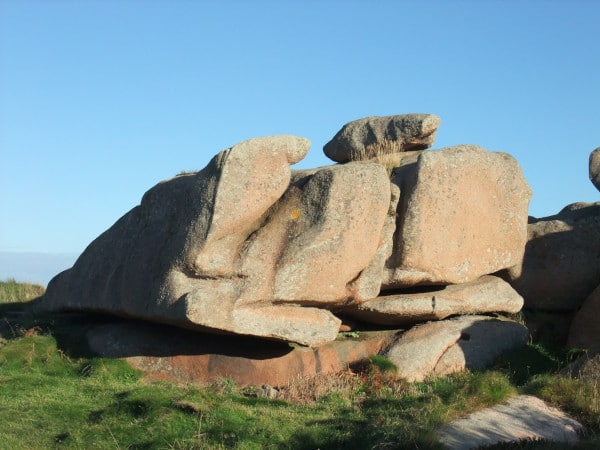
{"label": "clear blue sky above the rocks", "polygon": [[598,1],[0,0],[0,251],[81,252],[182,170],[257,136],[442,118],[514,155],[530,213],[597,201]]}

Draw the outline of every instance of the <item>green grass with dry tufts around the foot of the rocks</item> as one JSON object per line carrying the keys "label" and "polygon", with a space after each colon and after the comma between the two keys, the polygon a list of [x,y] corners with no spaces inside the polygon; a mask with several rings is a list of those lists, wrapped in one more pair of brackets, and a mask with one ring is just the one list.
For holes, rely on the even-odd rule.
{"label": "green grass with dry tufts around the foot of the rocks", "polygon": [[229,379],[204,387],[147,382],[82,345],[89,325],[105,318],[34,314],[28,301],[42,291],[0,282],[2,449],[433,449],[441,424],[517,393],[583,422],[588,434],[575,448],[600,448],[600,375],[558,375],[575,356],[560,348],[531,344],[493,370],[414,384],[393,381],[376,359],[360,374],[298,380],[268,400]]}

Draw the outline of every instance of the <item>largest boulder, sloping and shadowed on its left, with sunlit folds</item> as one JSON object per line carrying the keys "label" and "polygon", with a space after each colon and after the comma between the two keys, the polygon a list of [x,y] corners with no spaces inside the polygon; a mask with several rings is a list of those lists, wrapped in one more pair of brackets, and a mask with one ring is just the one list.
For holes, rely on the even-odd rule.
{"label": "largest boulder, sloping and shadowed on its left, with sunlit folds", "polygon": [[339,319],[312,306],[377,295],[378,279],[356,279],[381,245],[390,184],[364,162],[292,180],[289,164],[308,146],[252,139],[155,186],[52,280],[45,306],[306,345],[335,339]]}

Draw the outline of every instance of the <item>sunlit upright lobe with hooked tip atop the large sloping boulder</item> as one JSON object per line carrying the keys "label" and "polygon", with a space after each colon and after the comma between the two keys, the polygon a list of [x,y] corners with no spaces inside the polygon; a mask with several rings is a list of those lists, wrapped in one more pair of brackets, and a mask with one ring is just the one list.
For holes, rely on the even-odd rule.
{"label": "sunlit upright lobe with hooked tip atop the large sloping boulder", "polygon": [[302,160],[309,148],[308,139],[271,136],[219,153],[218,178],[210,181],[218,183],[214,200],[203,205],[203,214],[192,225],[195,233],[187,234],[187,263],[196,276],[233,274],[241,245],[287,189],[290,164]]}

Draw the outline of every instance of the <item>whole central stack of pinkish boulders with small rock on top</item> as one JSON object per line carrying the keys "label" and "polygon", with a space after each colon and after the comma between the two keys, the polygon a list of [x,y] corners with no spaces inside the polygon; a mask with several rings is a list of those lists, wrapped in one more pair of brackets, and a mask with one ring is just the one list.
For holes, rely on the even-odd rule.
{"label": "whole central stack of pinkish boulders with small rock on top", "polygon": [[[290,168],[304,138],[237,144],[150,189],[51,281],[42,305],[310,347],[333,341],[340,318],[421,324],[385,351],[400,376],[477,367],[527,337],[482,314],[523,305],[495,274],[522,265],[531,190],[505,153],[426,150],[439,123],[351,122],[324,147],[340,164],[312,170]],[[409,333],[437,349],[420,372],[403,369],[425,342]],[[482,345],[486,335],[512,338]]]}

